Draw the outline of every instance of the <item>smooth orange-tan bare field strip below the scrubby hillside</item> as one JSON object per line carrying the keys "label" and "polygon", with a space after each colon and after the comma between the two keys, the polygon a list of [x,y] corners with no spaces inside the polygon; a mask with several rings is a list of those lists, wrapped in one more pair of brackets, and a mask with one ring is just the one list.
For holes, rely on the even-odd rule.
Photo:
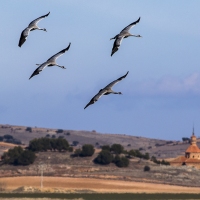
{"label": "smooth orange-tan bare field strip below the scrubby hillside", "polygon": [[[9,191],[22,186],[40,188],[41,184],[40,177],[37,176],[0,178],[0,182],[4,183]],[[197,187],[92,178],[44,177],[42,191],[52,191],[55,188],[65,192],[85,190],[98,193],[200,193]]]}

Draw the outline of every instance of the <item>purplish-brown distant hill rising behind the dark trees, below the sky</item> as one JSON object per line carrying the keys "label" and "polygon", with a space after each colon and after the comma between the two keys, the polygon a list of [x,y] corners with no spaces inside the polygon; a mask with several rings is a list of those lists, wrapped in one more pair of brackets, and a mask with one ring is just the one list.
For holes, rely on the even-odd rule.
{"label": "purplish-brown distant hill rising behind the dark trees, below the sky", "polygon": [[[83,144],[92,144],[97,149],[102,145],[118,143],[127,150],[139,149],[141,152],[148,152],[150,156],[154,155],[158,159],[183,155],[189,146],[186,142],[151,139],[125,134],[98,133],[94,130],[77,131],[0,124],[0,136],[4,135],[11,135],[25,145],[28,145],[30,140],[40,137],[63,137],[71,145],[74,144],[80,147]],[[0,155],[4,150],[5,147],[2,148],[0,144]]]}

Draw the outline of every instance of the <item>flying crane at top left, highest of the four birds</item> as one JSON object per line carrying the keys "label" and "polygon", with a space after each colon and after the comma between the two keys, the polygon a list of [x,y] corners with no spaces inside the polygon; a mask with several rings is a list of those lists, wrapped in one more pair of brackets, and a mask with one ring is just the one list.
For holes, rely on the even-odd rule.
{"label": "flying crane at top left, highest of the four birds", "polygon": [[[50,13],[50,12],[49,12],[49,13]],[[24,42],[26,41],[26,38],[28,37],[30,31],[34,31],[34,30],[36,30],[36,29],[38,29],[38,30],[43,30],[43,31],[47,31],[45,28],[39,28],[39,27],[37,26],[37,23],[38,23],[41,19],[47,17],[47,16],[49,15],[49,13],[46,14],[46,15],[43,15],[43,16],[41,16],[41,17],[38,17],[38,18],[35,19],[35,20],[33,20],[33,21],[28,25],[28,27],[26,27],[26,28],[22,31],[21,36],[20,36],[20,39],[19,39],[19,44],[18,44],[19,47],[21,47],[21,46],[24,44]]]}

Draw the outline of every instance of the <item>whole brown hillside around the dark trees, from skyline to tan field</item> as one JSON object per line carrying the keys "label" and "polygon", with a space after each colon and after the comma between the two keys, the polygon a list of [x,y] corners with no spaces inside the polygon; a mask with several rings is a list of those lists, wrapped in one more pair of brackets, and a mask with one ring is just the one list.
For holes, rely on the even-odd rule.
{"label": "whole brown hillside around the dark trees, from skyline to tan field", "polygon": [[[27,131],[28,130],[28,131]],[[43,163],[44,176],[48,177],[73,177],[73,178],[97,178],[106,180],[124,180],[149,183],[164,183],[182,186],[200,186],[200,171],[187,166],[173,167],[153,163],[150,160],[139,158],[130,159],[126,168],[119,168],[114,163],[109,165],[95,164],[100,146],[105,144],[120,143],[126,149],[143,149],[150,156],[159,158],[176,157],[183,154],[188,144],[177,141],[157,140],[137,136],[120,134],[102,134],[95,131],[58,130],[37,127],[23,127],[1,125],[0,136],[11,135],[28,145],[33,138],[59,137],[66,138],[70,144],[77,141],[80,147],[83,144],[93,144],[96,151],[92,157],[71,157],[70,152],[38,152],[35,162],[28,166],[1,165],[0,177],[38,176]],[[1,153],[13,147],[13,144],[0,142]],[[151,146],[151,148],[150,148]],[[150,167],[149,172],[144,172],[144,166]]]}

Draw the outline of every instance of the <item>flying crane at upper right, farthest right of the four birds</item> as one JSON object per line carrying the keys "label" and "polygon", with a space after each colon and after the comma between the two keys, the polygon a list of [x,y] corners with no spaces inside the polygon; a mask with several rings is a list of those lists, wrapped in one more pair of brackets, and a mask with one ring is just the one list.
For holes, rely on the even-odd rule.
{"label": "flying crane at upper right, farthest right of the four birds", "polygon": [[112,48],[112,52],[111,52],[111,56],[118,51],[123,38],[127,38],[129,36],[134,36],[134,37],[142,37],[141,35],[132,35],[131,33],[129,33],[129,30],[135,26],[138,22],[140,21],[140,17],[138,18],[137,21],[129,24],[127,27],[125,27],[119,34],[117,34],[115,37],[111,38],[110,40],[115,39],[115,42],[113,44],[113,48]]}

